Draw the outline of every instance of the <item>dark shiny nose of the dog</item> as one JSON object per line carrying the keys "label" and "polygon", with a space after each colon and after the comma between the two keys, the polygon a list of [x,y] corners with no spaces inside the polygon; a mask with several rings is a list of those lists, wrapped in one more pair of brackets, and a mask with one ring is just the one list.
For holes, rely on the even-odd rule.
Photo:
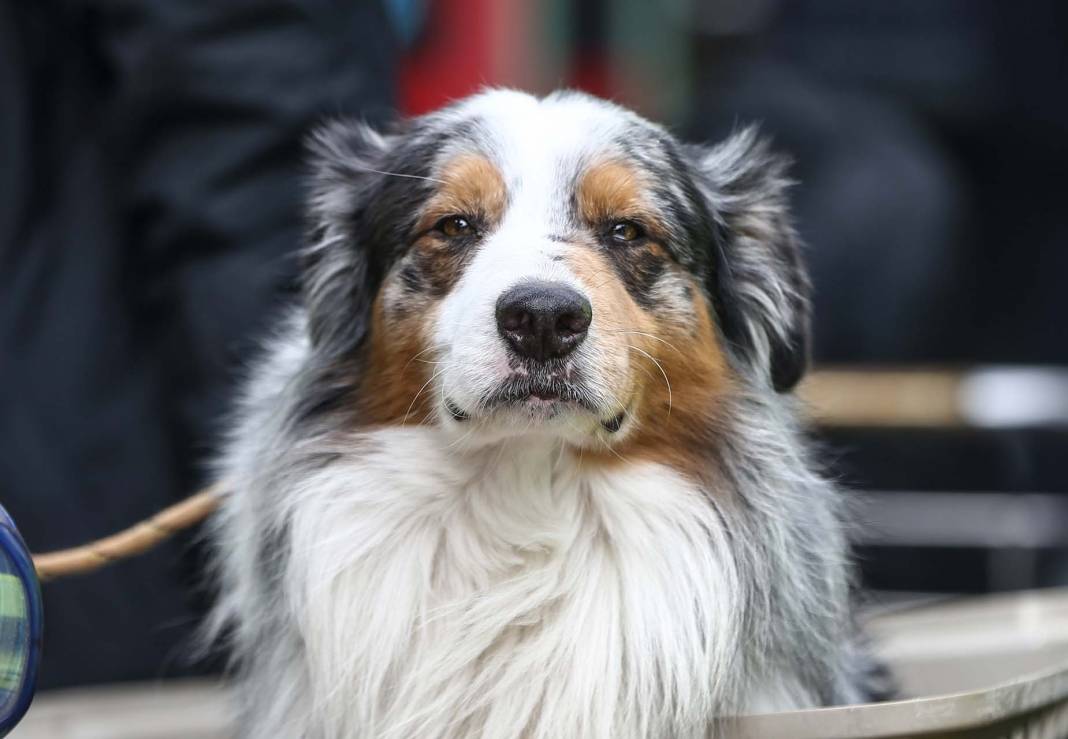
{"label": "dark shiny nose of the dog", "polygon": [[593,319],[590,301],[560,282],[524,282],[497,301],[497,329],[520,357],[539,362],[568,355]]}

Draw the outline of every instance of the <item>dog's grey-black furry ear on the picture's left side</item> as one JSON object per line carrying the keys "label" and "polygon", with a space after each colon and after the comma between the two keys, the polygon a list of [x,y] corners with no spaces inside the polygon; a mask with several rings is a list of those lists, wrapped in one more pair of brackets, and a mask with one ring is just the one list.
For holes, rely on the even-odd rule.
{"label": "dog's grey-black furry ear on the picture's left side", "polygon": [[301,286],[312,344],[327,356],[357,348],[370,327],[380,277],[373,245],[361,232],[393,143],[393,137],[350,121],[323,126],[309,143],[310,234]]}

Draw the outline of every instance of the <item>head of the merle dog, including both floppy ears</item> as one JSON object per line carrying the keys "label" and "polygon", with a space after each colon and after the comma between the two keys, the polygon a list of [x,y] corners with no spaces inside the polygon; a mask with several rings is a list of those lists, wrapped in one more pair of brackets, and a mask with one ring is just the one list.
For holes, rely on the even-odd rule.
{"label": "head of the merle dog, including both floppy ears", "polygon": [[752,131],[690,146],[586,95],[489,91],[314,152],[312,341],[359,358],[363,423],[596,449],[804,371],[785,164]]}

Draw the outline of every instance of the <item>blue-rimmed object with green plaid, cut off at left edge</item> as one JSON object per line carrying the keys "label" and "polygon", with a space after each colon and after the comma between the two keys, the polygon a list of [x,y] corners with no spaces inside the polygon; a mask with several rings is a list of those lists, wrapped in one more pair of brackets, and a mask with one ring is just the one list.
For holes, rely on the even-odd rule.
{"label": "blue-rimmed object with green plaid, cut off at left edge", "polygon": [[19,722],[33,699],[42,629],[33,562],[0,506],[0,737]]}

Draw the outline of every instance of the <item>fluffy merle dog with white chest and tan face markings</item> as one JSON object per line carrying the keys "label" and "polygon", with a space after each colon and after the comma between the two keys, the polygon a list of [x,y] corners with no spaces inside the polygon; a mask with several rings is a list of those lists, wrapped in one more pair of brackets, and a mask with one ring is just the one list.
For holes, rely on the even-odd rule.
{"label": "fluffy merle dog with white chest and tan face markings", "polygon": [[241,736],[698,737],[855,703],[787,162],[488,90],[314,136],[219,474]]}

